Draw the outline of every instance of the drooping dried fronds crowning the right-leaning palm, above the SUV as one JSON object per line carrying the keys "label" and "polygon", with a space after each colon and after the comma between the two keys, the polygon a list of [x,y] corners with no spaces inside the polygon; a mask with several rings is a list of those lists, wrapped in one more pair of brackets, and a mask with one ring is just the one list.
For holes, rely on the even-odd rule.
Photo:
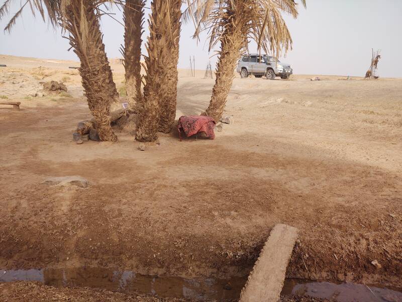
{"label": "drooping dried fronds crowning the right-leaning palm, above the SUV", "polygon": [[[306,7],[306,0],[301,3]],[[291,49],[292,44],[282,13],[297,18],[294,0],[187,0],[183,20],[195,24],[194,38],[208,31],[211,50],[236,15],[243,20],[239,24],[248,40],[256,41],[258,49],[270,50],[274,56],[279,56],[282,50],[286,53]]]}

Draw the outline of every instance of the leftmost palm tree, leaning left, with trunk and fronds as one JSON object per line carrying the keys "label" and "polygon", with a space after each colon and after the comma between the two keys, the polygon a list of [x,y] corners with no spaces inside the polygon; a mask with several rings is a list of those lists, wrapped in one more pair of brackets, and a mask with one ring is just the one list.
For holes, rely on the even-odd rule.
{"label": "leftmost palm tree, leaning left, with trunk and fronds", "polygon": [[[27,0],[13,16],[5,31],[11,30],[16,19],[21,16],[24,7],[29,4],[37,9],[44,18],[43,4],[47,9],[53,26],[60,25],[69,33],[68,39],[80,60],[79,72],[82,86],[88,101],[88,107],[94,119],[101,140],[117,141],[110,124],[110,106],[117,103],[118,93],[113,82],[105,45],[102,42],[99,18],[102,15],[99,6],[104,2],[92,0]],[[6,0],[0,8],[0,18],[10,8],[11,0]],[[35,14],[35,13],[34,13]]]}

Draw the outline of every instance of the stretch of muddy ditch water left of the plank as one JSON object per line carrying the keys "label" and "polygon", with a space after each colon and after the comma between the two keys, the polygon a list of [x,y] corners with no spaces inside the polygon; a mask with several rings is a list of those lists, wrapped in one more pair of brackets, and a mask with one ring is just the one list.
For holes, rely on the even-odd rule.
{"label": "stretch of muddy ditch water left of the plank", "polygon": [[0,270],[0,282],[39,281],[51,286],[87,286],[194,300],[233,300],[240,297],[247,277],[230,279],[145,276],[103,268]]}

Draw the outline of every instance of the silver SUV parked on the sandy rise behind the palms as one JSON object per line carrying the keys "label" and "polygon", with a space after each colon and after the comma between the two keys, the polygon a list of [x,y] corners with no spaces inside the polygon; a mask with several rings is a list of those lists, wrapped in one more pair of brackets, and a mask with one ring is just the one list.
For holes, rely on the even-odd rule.
{"label": "silver SUV parked on the sandy rise behind the palms", "polygon": [[275,77],[287,79],[293,73],[293,69],[289,64],[281,63],[279,60],[266,54],[243,55],[237,64],[236,71],[240,73],[242,78],[247,78],[249,74],[253,74],[257,78],[265,75],[269,80],[273,80]]}

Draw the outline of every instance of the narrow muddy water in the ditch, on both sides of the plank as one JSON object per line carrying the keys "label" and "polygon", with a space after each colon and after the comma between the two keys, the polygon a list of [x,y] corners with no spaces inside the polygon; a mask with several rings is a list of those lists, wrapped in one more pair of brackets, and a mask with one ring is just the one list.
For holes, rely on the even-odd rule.
{"label": "narrow muddy water in the ditch, on both sides of the plank", "polygon": [[[0,282],[19,280],[39,281],[52,286],[87,286],[160,297],[225,301],[239,299],[247,276],[230,279],[185,279],[144,276],[132,271],[103,268],[0,270]],[[402,292],[381,286],[300,279],[286,279],[282,294],[327,298],[338,302],[402,302]]]}

